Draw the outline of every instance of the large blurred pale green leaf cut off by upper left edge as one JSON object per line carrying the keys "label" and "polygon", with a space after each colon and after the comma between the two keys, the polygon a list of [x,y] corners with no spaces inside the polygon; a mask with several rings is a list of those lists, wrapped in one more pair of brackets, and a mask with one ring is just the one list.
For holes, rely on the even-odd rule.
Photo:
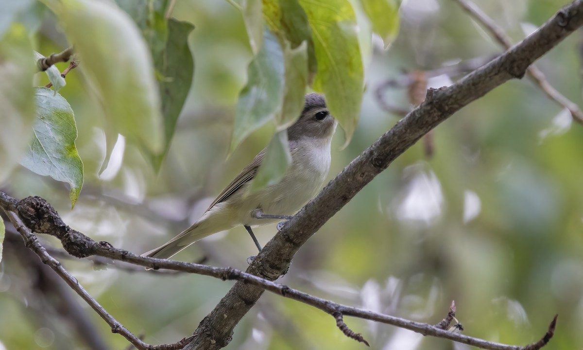
{"label": "large blurred pale green leaf cut off by upper left edge", "polygon": [[32,138],[37,71],[29,36],[22,24],[12,24],[0,40],[0,184],[20,161]]}

